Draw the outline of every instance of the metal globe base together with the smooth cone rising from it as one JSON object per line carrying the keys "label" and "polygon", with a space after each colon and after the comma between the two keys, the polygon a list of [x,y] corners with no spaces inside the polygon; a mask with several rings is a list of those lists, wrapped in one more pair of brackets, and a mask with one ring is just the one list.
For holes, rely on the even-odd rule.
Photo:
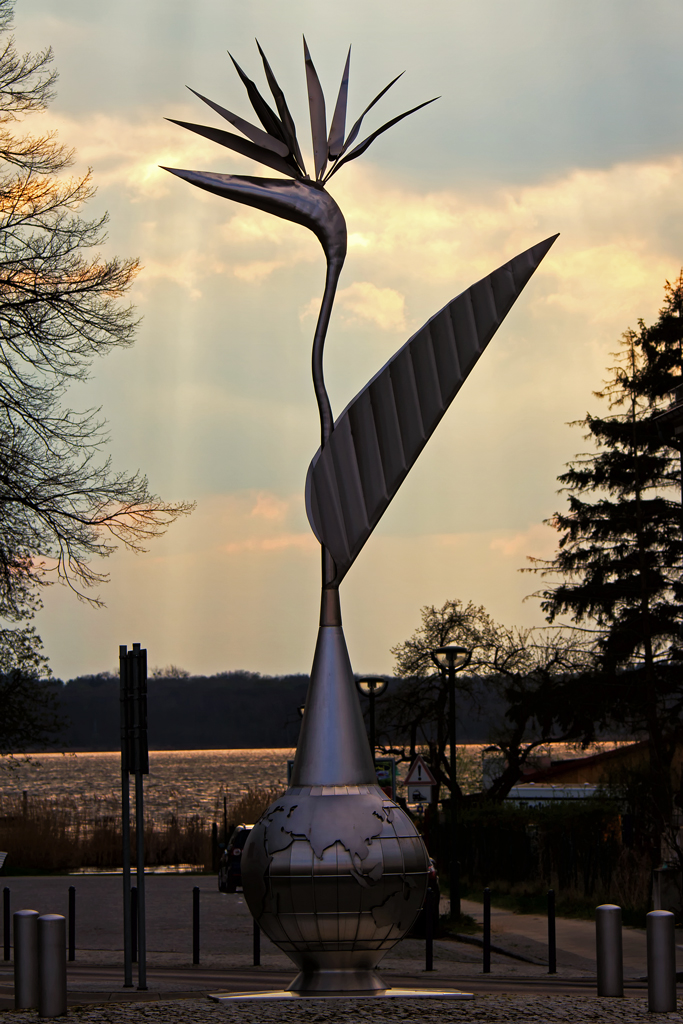
{"label": "metal globe base together with the smooth cone rising from it", "polygon": [[375,968],[409,931],[428,855],[377,784],[341,626],[318,632],[292,784],[242,855],[249,909],[299,968],[299,995],[381,994]]}

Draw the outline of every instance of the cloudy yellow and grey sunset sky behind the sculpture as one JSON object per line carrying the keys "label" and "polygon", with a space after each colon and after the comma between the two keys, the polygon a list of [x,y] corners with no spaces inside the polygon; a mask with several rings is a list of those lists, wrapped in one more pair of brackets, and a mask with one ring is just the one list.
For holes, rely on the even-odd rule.
{"label": "cloudy yellow and grey sunset sky behind the sculpture", "polygon": [[[390,672],[424,605],[459,598],[542,626],[569,427],[611,353],[651,322],[683,263],[683,89],[676,0],[17,0],[22,49],[51,45],[55,128],[92,167],[104,253],[139,256],[134,347],[74,387],[101,406],[116,468],[196,511],[118,551],[94,609],[67,589],[36,617],[60,678],[114,671],[122,643],[191,673],[308,672],[319,549],[303,486],[317,447],[310,344],[325,259],[303,227],[159,165],[270,174],[165,118],[219,127],[185,89],[252,118],[227,50],[265,88],[254,38],[310,153],[302,34],[328,110],[349,44],[349,120],[398,72],[372,130],[437,102],[340,170],[349,251],[326,347],[336,414],[437,309],[556,231],[527,285],[342,585],[357,672]],[[310,159],[309,159],[310,162]]]}

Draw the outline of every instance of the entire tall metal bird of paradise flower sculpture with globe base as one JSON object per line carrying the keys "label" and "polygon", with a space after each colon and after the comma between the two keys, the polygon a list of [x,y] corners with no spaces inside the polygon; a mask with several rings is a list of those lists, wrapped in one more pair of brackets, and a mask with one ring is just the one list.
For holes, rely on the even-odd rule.
{"label": "entire tall metal bird of paradise flower sculpture with globe base", "polygon": [[327,257],[312,351],[321,447],[306,480],[306,511],[323,552],[321,624],[291,786],[252,830],[242,873],[255,919],[299,967],[292,992],[381,994],[387,985],[375,967],[422,906],[428,857],[411,819],[377,785],[342,631],[339,585],[556,236],[453,299],[335,421],[323,349],[346,256],[346,223],[326,184],[383,132],[433,100],[399,114],[356,143],[364,119],[400,76],[346,134],[349,50],[328,131],[323,89],[304,40],[311,178],[285,95],[258,49],[278,113],[231,59],[262,128],[200,93],[242,134],[173,123],[285,177],[166,168],[200,188],[310,228]]}

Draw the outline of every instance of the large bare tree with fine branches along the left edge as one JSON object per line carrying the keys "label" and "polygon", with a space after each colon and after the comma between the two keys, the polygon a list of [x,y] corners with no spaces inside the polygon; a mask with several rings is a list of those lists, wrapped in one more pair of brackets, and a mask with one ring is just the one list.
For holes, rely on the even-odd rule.
{"label": "large bare tree with fine branches along the left edge", "polygon": [[106,574],[92,558],[143,550],[191,506],[115,471],[99,411],[63,404],[95,356],[132,344],[137,321],[121,299],[139,265],[99,254],[106,215],[80,214],[90,172],[66,178],[72,153],[19,124],[46,108],[56,74],[50,49],[17,53],[12,8],[0,0],[0,614],[20,622],[55,579],[99,604],[87,592]]}

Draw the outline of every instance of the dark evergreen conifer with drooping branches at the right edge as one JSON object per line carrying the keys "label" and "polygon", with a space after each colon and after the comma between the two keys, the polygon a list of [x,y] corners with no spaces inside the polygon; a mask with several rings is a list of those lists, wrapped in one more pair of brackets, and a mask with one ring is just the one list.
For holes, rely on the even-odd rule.
{"label": "dark evergreen conifer with drooping branches at the right edge", "polygon": [[682,382],[683,278],[667,283],[656,323],[623,336],[616,365],[596,396],[605,416],[579,425],[596,451],[559,480],[569,507],[552,561],[535,569],[560,580],[540,594],[549,622],[568,615],[595,631],[597,685],[583,688],[595,721],[628,726],[649,748],[650,838],[655,859],[672,822],[676,743],[683,729],[680,465],[657,429],[663,402]]}

